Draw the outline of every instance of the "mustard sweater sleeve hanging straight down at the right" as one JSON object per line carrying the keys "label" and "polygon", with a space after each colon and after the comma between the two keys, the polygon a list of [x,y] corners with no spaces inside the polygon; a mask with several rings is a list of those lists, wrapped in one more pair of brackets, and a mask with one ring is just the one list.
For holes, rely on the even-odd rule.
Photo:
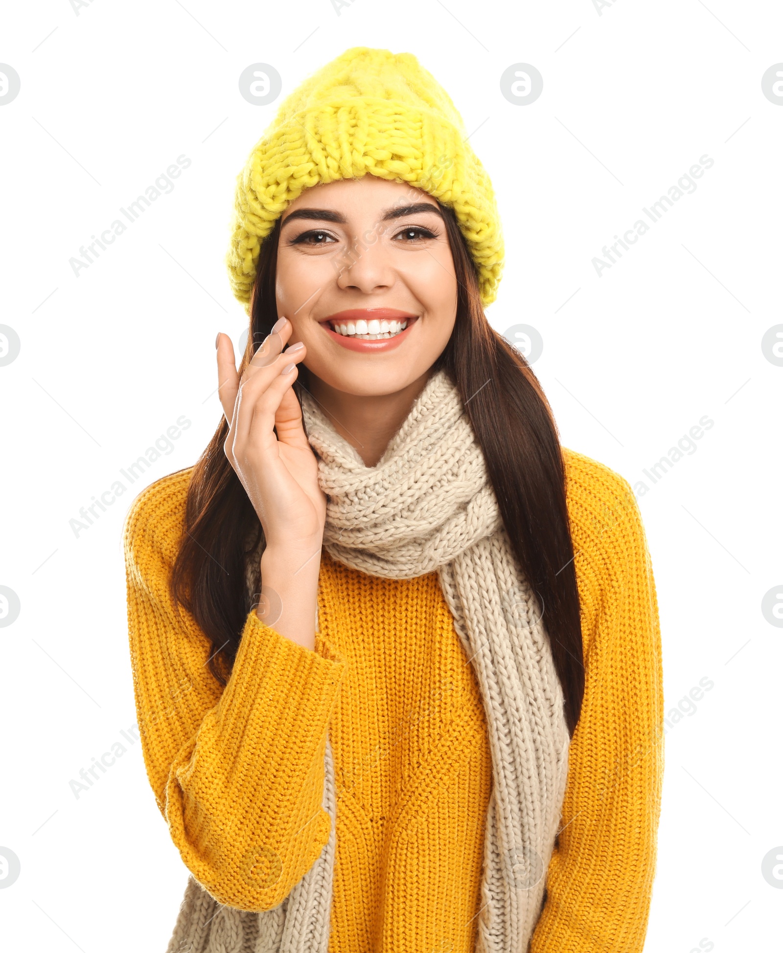
{"label": "mustard sweater sleeve hanging straight down at the right", "polygon": [[641,953],[663,776],[658,605],[628,482],[567,451],[582,608],[582,713],[530,953]]}

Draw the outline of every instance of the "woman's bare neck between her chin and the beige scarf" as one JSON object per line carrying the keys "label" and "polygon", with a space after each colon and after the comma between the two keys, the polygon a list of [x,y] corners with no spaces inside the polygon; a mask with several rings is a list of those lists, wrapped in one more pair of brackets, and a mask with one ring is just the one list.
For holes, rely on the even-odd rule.
{"label": "woman's bare neck between her chin and the beige scarf", "polygon": [[389,440],[410,413],[413,401],[422,393],[430,371],[394,394],[358,396],[337,391],[314,374],[302,384],[319,402],[332,426],[354,447],[364,465],[374,467]]}

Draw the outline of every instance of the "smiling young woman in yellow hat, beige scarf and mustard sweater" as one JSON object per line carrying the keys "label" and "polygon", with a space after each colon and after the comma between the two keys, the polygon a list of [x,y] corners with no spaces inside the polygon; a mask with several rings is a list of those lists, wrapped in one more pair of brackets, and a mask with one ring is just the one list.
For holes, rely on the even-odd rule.
{"label": "smiling young woman in yellow hat, beige scarf and mustard sweater", "polygon": [[662,688],[623,477],[489,325],[489,180],[358,48],[237,178],[224,419],[126,524],[138,723],[192,877],[170,953],[641,951]]}

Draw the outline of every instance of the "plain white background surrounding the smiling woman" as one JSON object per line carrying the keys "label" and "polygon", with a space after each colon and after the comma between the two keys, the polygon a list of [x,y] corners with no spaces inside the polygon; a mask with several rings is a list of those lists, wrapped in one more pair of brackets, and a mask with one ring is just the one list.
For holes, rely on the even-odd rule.
{"label": "plain white background surrounding the smiling woman", "polygon": [[[142,484],[191,465],[219,422],[216,332],[236,343],[246,322],[223,263],[235,176],[282,96],[358,45],[415,53],[476,130],[506,243],[490,320],[543,336],[534,369],[563,442],[649,485],[667,711],[714,682],[667,735],[646,950],[779,948],[783,890],[761,862],[783,845],[783,631],[761,600],[783,584],[783,367],[761,340],[783,322],[783,108],[761,77],[783,61],[783,10],[517,8],[38,0],[0,13],[0,61],[21,77],[0,107],[0,323],[21,339],[0,367],[0,584],[21,600],[0,630],[0,846],[21,862],[0,890],[4,948],[162,953],[171,935],[187,872],[139,744],[78,799],[69,786],[135,720],[120,531]],[[258,62],[282,76],[271,105],[238,92]],[[515,63],[541,71],[535,103],[501,94]],[[76,277],[69,258],[183,153],[174,192]],[[697,190],[599,277],[593,256],[705,154]],[[75,537],[69,520],[181,415],[192,426],[171,454]],[[696,452],[652,484],[642,470],[704,415]]]}

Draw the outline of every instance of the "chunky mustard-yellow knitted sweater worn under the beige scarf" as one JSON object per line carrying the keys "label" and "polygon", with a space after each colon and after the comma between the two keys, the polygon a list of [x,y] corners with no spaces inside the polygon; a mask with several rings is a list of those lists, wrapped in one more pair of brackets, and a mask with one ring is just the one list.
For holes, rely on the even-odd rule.
{"label": "chunky mustard-yellow knitted sweater worn under the beige scarf", "polygon": [[[625,479],[566,451],[586,692],[531,953],[644,945],[663,770],[655,586]],[[223,688],[167,582],[191,470],[156,481],[125,527],[136,712],[155,798],[219,902],[281,902],[329,836],[330,953],[471,953],[492,766],[473,669],[436,574],[373,578],[324,553],[316,651],[251,612]]]}

